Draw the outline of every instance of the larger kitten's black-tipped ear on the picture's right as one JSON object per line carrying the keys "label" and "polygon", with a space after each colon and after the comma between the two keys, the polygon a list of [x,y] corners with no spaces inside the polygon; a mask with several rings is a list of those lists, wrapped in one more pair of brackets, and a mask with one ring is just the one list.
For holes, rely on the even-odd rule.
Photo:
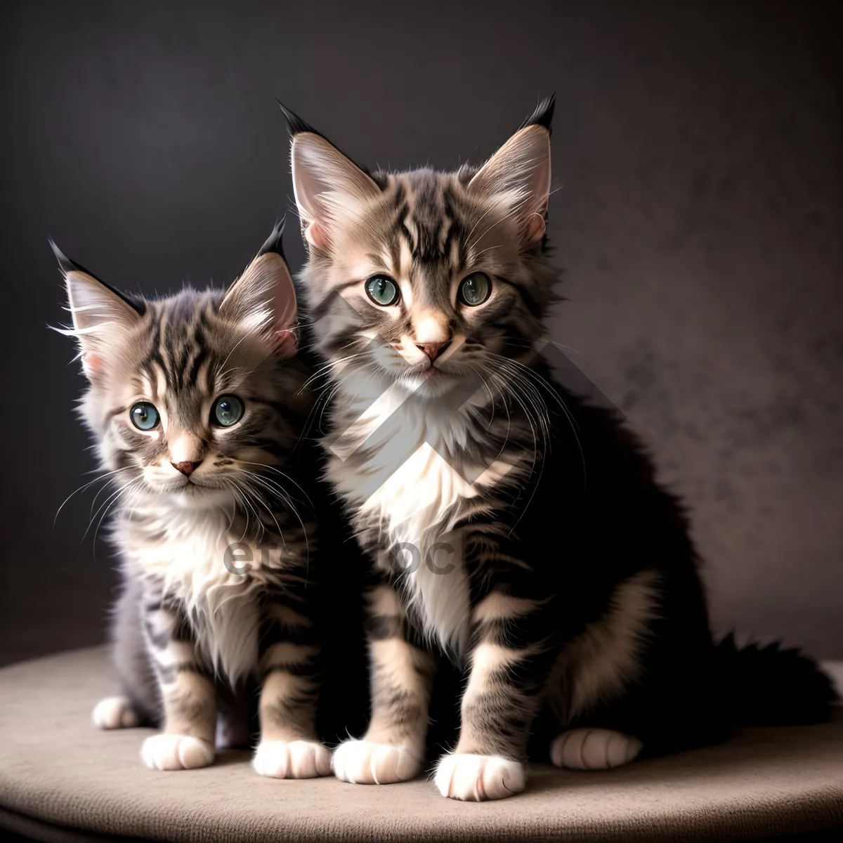
{"label": "larger kitten's black-tipped ear on the picture's right", "polygon": [[525,249],[545,235],[550,198],[550,120],[554,97],[540,103],[469,182],[468,191],[499,201],[518,221]]}

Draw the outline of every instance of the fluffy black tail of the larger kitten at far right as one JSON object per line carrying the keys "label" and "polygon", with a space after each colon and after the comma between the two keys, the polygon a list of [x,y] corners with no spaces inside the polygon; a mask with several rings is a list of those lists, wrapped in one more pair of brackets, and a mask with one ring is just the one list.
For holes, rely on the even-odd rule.
{"label": "fluffy black tail of the larger kitten at far right", "polygon": [[723,702],[733,726],[795,726],[830,717],[838,697],[829,676],[797,649],[779,643],[735,644],[729,633],[715,647]]}

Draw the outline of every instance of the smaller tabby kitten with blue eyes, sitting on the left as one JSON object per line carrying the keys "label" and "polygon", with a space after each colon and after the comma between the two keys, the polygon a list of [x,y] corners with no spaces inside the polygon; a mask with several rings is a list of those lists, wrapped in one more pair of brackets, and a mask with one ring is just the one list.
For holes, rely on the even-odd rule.
{"label": "smaller tabby kitten with blue eyes, sitting on the left", "polygon": [[[144,762],[180,770],[250,738],[255,771],[330,773],[316,738],[319,530],[313,454],[300,443],[311,398],[296,357],[297,308],[283,223],[228,292],[142,300],[68,260],[72,329],[89,380],[81,412],[114,491],[123,590],[115,661],[123,695],[100,728],[158,722]],[[298,447],[297,447],[298,446]]]}

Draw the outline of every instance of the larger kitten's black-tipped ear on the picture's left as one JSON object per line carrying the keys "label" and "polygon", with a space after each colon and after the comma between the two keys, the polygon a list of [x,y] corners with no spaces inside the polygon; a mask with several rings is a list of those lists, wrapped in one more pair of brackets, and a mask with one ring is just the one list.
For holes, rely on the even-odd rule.
{"label": "larger kitten's black-tipped ear on the picture's left", "polygon": [[315,249],[326,251],[337,228],[357,217],[380,188],[319,132],[283,105],[281,110],[293,138],[293,191],[302,234]]}

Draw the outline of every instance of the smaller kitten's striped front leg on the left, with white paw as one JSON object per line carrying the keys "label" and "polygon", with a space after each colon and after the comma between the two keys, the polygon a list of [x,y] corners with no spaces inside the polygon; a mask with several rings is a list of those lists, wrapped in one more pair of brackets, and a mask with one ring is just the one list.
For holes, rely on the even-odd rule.
{"label": "smaller kitten's striped front leg on the left, with white paw", "polygon": [[164,707],[164,733],[144,741],[143,760],[153,770],[205,767],[214,759],[217,724],[207,664],[184,616],[160,598],[146,600],[143,626]]}

